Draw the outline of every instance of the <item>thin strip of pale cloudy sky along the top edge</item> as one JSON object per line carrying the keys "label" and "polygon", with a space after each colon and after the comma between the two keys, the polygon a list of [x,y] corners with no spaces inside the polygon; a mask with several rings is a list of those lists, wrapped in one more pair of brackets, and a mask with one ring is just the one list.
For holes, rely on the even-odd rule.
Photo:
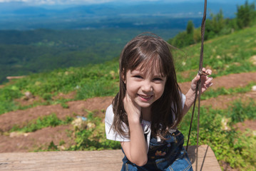
{"label": "thin strip of pale cloudy sky along the top edge", "polygon": [[[122,2],[123,0],[0,0],[1,2],[25,2],[30,5],[56,5],[56,4],[103,4],[107,2]],[[177,2],[177,0],[129,0],[130,2],[142,2],[142,1],[166,1],[166,2]],[[190,2],[197,2],[204,0],[178,0],[181,1],[190,1]],[[215,2],[223,2],[223,0],[214,0]],[[244,0],[245,1],[245,0]],[[225,0],[225,3],[234,3],[234,4],[241,4],[244,2],[243,0]],[[255,0],[249,0],[249,2],[253,2]],[[127,2],[127,1],[126,1]]]}

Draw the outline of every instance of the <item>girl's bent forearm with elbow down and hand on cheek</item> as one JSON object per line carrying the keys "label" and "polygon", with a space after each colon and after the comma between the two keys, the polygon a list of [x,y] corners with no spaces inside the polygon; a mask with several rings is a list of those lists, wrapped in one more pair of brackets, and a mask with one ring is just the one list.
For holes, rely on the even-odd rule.
{"label": "girl's bent forearm with elbow down and hand on cheek", "polygon": [[148,147],[140,123],[141,108],[133,103],[128,94],[126,94],[123,103],[128,115],[130,142],[121,142],[121,146],[130,162],[138,166],[143,166],[148,161]]}

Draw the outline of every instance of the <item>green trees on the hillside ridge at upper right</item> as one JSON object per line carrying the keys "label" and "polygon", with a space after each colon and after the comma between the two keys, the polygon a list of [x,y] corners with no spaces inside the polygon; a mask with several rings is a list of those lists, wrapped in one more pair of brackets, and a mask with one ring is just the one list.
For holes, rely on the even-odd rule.
{"label": "green trees on the hillside ridge at upper right", "polygon": [[[222,9],[217,14],[210,14],[210,19],[205,21],[205,40],[230,34],[234,31],[253,26],[256,23],[255,4],[245,4],[237,6],[234,19],[225,19]],[[195,28],[193,21],[188,21],[185,31],[181,31],[174,38],[170,38],[168,43],[179,48],[189,46],[201,41],[201,27]]]}

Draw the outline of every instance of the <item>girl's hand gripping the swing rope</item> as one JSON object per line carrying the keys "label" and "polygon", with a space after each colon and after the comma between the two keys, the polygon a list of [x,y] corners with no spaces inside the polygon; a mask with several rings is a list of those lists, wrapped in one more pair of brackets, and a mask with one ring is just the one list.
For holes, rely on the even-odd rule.
{"label": "girl's hand gripping the swing rope", "polygon": [[[202,68],[202,71],[207,73],[208,76],[210,76],[212,74],[212,71],[210,69],[208,70],[205,70],[205,68]],[[208,77],[208,76],[205,76],[205,75],[202,75],[201,76],[201,92],[205,92],[205,90],[207,90],[210,86],[213,86],[213,78],[212,77]],[[196,88],[196,84],[197,82],[200,80],[200,76],[197,75],[195,76],[195,78],[193,79],[192,83],[191,83],[191,89],[193,91],[195,91],[195,88]]]}

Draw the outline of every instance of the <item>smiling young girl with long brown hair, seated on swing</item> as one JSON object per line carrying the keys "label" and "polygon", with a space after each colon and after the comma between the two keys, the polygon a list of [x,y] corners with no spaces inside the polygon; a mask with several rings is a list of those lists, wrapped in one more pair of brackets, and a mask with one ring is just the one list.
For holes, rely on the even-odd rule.
{"label": "smiling young girl with long brown hair, seated on swing", "polygon": [[[200,76],[186,95],[180,93],[169,47],[158,36],[139,35],[121,53],[120,90],[105,123],[106,137],[121,142],[122,170],[193,170],[177,127],[193,104]],[[212,80],[202,76],[202,92]]]}

